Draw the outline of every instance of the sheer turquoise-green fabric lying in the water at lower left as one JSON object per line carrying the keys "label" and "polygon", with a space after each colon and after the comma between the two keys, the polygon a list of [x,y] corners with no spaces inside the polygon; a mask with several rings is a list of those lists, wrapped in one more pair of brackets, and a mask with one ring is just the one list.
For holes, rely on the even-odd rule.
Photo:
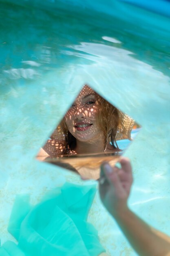
{"label": "sheer turquoise-green fabric lying in the water at lower left", "polygon": [[105,252],[97,231],[86,222],[96,188],[65,183],[37,206],[29,196],[17,196],[9,232],[18,245],[7,241],[0,256],[97,256]]}

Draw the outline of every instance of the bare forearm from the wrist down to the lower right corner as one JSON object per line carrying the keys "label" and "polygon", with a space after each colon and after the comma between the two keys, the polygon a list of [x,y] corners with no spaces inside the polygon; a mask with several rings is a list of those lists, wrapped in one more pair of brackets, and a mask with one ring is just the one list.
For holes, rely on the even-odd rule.
{"label": "bare forearm from the wrist down to the lower right corner", "polygon": [[139,256],[170,256],[170,237],[148,226],[128,207],[113,217]]}

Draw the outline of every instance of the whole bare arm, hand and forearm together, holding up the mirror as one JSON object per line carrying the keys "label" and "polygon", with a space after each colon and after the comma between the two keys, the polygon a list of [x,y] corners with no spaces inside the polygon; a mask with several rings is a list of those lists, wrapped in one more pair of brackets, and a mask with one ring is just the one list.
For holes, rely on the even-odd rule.
{"label": "whole bare arm, hand and forearm together, holding up the mirror", "polygon": [[105,180],[100,182],[99,192],[104,206],[139,256],[170,256],[170,237],[147,225],[128,208],[132,168],[127,158],[119,163],[121,168],[107,162],[101,166],[101,179]]}

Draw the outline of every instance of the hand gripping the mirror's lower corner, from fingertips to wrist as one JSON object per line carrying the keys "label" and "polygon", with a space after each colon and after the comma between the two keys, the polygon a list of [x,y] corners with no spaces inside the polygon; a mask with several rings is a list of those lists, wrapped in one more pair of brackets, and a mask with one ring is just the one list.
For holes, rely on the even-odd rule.
{"label": "hand gripping the mirror's lower corner, from fingertips to wrist", "polygon": [[127,209],[132,185],[132,167],[128,158],[119,161],[121,168],[111,167],[107,162],[101,166],[99,180],[100,198],[106,209],[116,216]]}

